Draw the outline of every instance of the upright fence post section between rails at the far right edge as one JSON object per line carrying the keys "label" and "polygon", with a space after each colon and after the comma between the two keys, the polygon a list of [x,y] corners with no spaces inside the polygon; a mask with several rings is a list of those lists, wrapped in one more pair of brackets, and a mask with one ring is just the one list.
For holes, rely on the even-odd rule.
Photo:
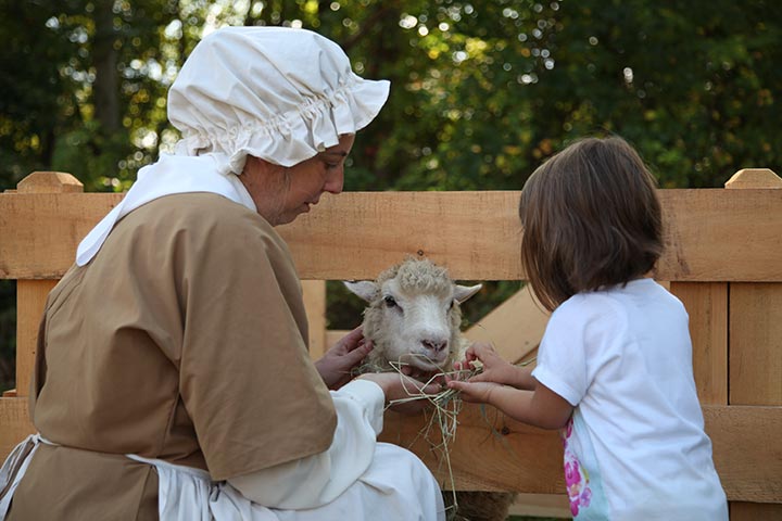
{"label": "upright fence post section between rails at the far right edge", "polygon": [[730,284],[730,403],[782,405],[782,284]]}

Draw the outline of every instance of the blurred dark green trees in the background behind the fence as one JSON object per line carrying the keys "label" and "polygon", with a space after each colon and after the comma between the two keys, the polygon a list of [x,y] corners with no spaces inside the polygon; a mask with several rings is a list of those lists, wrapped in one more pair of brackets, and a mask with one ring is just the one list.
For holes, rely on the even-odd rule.
{"label": "blurred dark green trees in the background behind the fence", "polygon": [[[391,80],[346,190],[517,190],[569,141],[607,132],[632,142],[664,188],[782,169],[772,0],[0,0],[0,190],[41,169],[87,191],[127,189],[178,139],[167,88],[224,25],[313,29],[360,75]],[[472,313],[512,291],[491,285]],[[13,350],[12,305],[2,281],[0,359]],[[357,321],[355,308],[332,308],[333,327]]]}

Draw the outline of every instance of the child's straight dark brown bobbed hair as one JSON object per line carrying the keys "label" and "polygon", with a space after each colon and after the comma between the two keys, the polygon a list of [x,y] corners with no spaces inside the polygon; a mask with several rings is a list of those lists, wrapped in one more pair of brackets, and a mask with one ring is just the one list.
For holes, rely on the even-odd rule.
{"label": "child's straight dark brown bobbed hair", "polygon": [[654,267],[663,253],[656,186],[618,137],[577,141],[532,174],[519,205],[521,262],[546,309]]}

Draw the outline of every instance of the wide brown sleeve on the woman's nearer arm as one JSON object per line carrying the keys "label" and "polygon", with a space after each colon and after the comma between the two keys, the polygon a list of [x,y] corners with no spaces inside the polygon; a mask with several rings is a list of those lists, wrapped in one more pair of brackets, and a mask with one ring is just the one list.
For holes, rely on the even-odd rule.
{"label": "wide brown sleeve on the woman's nearer arm", "polygon": [[310,360],[292,259],[260,217],[220,219],[180,250],[180,392],[215,480],[326,450],[337,423]]}

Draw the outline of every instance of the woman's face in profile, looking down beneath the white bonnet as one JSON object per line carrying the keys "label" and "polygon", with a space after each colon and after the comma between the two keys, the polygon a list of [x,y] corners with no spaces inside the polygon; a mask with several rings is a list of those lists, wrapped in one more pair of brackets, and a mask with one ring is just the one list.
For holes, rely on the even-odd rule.
{"label": "woman's face in profile, looking down beneath the white bonnet", "polygon": [[248,157],[239,176],[255,202],[258,214],[272,226],[291,223],[320,201],[325,192],[340,193],[345,157],[354,135],[340,136],[338,144],[291,167]]}

